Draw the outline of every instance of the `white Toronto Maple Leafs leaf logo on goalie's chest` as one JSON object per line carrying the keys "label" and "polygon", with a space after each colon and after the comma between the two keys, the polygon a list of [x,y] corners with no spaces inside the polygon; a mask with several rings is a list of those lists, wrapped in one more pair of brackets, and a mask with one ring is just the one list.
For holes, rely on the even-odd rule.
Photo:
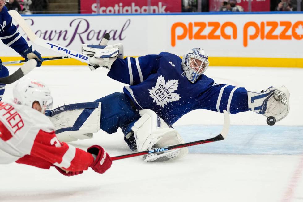
{"label": "white Toronto Maple Leafs leaf logo on goalie's chest", "polygon": [[149,91],[150,97],[156,102],[157,105],[164,108],[164,105],[167,105],[168,102],[180,100],[180,95],[174,93],[178,89],[179,80],[168,80],[165,83],[164,76],[160,75],[157,79],[155,87],[152,87]]}

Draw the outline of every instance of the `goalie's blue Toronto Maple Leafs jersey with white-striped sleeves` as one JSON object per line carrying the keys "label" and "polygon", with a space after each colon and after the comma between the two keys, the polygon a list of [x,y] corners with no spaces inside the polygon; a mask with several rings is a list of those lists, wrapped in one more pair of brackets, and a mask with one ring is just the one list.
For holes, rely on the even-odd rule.
{"label": "goalie's blue Toronto Maple Leafs jersey with white-striped sleeves", "polygon": [[231,114],[249,110],[245,88],[216,84],[204,74],[193,84],[184,75],[181,61],[166,52],[117,59],[108,76],[129,84],[123,92],[137,108],[153,110],[168,125],[195,109],[221,113],[225,109]]}

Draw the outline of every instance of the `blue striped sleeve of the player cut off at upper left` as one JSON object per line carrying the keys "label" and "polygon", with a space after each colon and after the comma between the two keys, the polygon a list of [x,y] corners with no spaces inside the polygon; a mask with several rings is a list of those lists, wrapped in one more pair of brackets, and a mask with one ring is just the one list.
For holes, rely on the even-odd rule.
{"label": "blue striped sleeve of the player cut off at upper left", "polygon": [[23,50],[28,48],[28,44],[17,27],[12,23],[12,18],[8,14],[7,8],[4,6],[0,16],[0,38],[4,44],[10,46],[17,53],[21,54]]}

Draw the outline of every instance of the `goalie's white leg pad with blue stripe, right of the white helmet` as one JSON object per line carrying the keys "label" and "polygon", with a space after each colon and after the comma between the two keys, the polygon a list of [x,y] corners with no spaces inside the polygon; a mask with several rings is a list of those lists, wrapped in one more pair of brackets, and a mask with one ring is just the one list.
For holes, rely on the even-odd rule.
{"label": "goalie's white leg pad with blue stripe, right of the white helmet", "polygon": [[60,141],[92,138],[100,130],[101,102],[77,103],[46,110]]}

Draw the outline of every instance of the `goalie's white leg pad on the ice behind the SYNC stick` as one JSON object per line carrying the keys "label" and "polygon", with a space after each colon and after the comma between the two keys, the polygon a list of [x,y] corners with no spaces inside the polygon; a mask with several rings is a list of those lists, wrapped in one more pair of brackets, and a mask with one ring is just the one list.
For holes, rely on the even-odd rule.
{"label": "goalie's white leg pad on the ice behind the SYNC stick", "polygon": [[[139,118],[132,127],[138,152],[184,143],[179,133],[175,129],[170,128],[164,120],[152,110],[140,110],[139,114],[141,118]],[[148,162],[167,161],[184,157],[187,153],[187,148],[178,148],[163,153],[144,155],[141,156],[141,158]]]}

